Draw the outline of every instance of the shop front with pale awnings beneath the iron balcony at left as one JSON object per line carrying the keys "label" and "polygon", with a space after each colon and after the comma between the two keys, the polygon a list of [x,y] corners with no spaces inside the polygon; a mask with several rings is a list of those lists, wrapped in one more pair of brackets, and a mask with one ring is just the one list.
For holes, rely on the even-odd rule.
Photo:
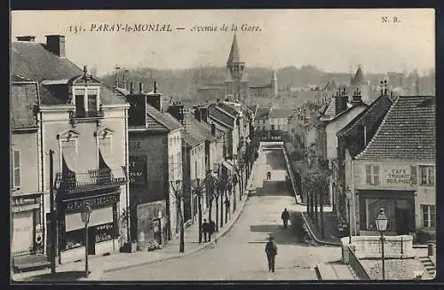
{"label": "shop front with pale awnings beneath the iron balcony at left", "polygon": [[92,208],[88,223],[88,254],[113,253],[118,245],[118,202],[120,191],[90,192],[89,196],[65,198],[59,201],[59,255],[61,263],[84,257],[85,224],[81,212]]}

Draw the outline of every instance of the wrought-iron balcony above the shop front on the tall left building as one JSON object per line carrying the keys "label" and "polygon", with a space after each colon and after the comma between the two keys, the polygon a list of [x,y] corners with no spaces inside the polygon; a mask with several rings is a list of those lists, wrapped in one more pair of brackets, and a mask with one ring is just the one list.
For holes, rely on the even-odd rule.
{"label": "wrought-iron balcony above the shop front on the tall left building", "polygon": [[91,192],[115,188],[126,184],[128,178],[122,166],[119,169],[94,169],[87,172],[57,173],[55,188],[58,192]]}

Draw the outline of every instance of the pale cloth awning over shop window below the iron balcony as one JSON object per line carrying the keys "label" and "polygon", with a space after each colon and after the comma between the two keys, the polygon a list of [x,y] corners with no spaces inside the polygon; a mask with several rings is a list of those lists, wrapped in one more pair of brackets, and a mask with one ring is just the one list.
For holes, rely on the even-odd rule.
{"label": "pale cloth awning over shop window below the iron balcony", "polygon": [[[91,212],[88,226],[94,226],[103,223],[113,223],[113,206],[106,208],[94,208]],[[84,228],[82,214],[77,212],[65,215],[65,231],[75,231]]]}

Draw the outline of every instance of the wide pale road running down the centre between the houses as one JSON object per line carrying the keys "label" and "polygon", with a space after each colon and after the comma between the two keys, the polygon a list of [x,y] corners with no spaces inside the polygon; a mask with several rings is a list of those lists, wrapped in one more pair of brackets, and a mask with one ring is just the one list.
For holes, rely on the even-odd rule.
{"label": "wide pale road running down the centre between the houses", "polygon": [[[285,181],[285,160],[280,150],[260,154],[258,191],[247,201],[242,216],[214,247],[178,260],[166,261],[127,270],[109,272],[104,280],[313,280],[314,266],[340,259],[337,247],[307,247],[300,242],[300,224],[294,211],[304,210],[295,204]],[[258,179],[258,178],[257,178]],[[281,211],[288,208],[293,223],[281,225]],[[272,234],[278,246],[276,271],[268,271],[266,238]]]}

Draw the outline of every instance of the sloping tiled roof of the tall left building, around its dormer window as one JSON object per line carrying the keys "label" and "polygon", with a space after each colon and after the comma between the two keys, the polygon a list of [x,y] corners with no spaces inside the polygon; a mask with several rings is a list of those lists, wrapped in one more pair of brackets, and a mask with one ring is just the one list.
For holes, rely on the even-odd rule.
{"label": "sloping tiled roof of the tall left building, around its dormer window", "polygon": [[[14,42],[12,43],[12,74],[43,82],[44,80],[72,80],[83,74],[80,67],[75,66],[67,58],[59,58],[45,49],[43,43]],[[39,85],[42,105],[62,105],[67,103],[67,96],[60,98],[58,92],[51,90],[49,86]],[[100,101],[103,105],[125,104],[123,98],[119,98],[104,84],[100,85]]]}

